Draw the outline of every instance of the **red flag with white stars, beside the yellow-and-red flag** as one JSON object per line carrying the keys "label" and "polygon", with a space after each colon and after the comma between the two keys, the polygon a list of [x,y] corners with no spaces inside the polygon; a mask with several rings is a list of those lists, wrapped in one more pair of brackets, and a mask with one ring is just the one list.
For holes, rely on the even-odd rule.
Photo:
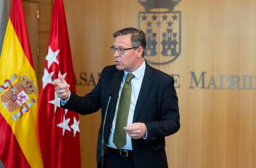
{"label": "red flag with white stars, beside the yellow-and-red flag", "polygon": [[38,108],[38,139],[45,167],[80,168],[79,115],[60,108],[52,84],[59,81],[59,73],[75,92],[64,6],[62,0],[55,0]]}

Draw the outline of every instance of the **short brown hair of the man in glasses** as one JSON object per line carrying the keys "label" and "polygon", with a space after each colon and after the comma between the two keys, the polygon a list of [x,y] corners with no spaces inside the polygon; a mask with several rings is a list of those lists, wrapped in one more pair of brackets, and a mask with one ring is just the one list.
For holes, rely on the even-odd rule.
{"label": "short brown hair of the man in glasses", "polygon": [[132,34],[132,36],[130,36],[130,42],[132,43],[132,47],[143,47],[142,57],[144,57],[147,46],[144,32],[136,28],[123,28],[122,30],[117,30],[113,34],[113,38],[126,34]]}

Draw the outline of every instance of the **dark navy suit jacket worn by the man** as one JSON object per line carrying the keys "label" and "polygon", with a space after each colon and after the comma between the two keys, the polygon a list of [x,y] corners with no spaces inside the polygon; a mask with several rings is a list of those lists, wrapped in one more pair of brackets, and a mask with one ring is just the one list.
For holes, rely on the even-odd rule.
{"label": "dark navy suit jacket worn by the man", "polygon": [[[71,94],[69,101],[64,106],[64,108],[77,111],[79,114],[94,113],[101,108],[101,121],[103,121],[108,103],[109,87],[114,73],[119,74],[118,87],[114,89],[114,96],[106,117],[105,140],[108,139],[114,118],[123,71],[117,70],[115,65],[106,66],[101,73],[98,84],[89,94],[84,97]],[[133,122],[144,122],[148,132],[146,140],[143,138],[139,140],[132,139],[135,167],[168,167],[164,150],[164,137],[176,133],[180,127],[174,79],[168,74],[152,68],[147,63],[142,87],[135,106]],[[100,161],[102,123],[98,132],[97,162]]]}

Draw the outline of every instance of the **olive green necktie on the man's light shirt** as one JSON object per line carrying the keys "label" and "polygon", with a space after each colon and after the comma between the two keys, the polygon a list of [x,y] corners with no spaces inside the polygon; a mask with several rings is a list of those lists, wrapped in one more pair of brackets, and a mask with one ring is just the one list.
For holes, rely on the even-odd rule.
{"label": "olive green necktie on the man's light shirt", "polygon": [[124,130],[124,127],[127,126],[127,119],[130,110],[130,95],[132,94],[132,85],[130,84],[130,80],[132,80],[132,78],[134,78],[134,74],[127,74],[126,81],[122,87],[122,93],[117,110],[113,142],[119,149],[126,145],[126,131]]}

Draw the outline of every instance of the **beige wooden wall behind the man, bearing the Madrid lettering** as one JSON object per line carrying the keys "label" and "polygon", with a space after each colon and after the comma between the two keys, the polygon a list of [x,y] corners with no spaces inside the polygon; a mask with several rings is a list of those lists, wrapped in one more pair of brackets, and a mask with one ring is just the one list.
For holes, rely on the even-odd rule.
{"label": "beige wooden wall behind the man, bearing the Madrid lettering", "polygon": [[[83,95],[93,88],[90,75],[96,82],[103,67],[113,64],[109,51],[113,32],[126,26],[137,27],[138,12],[145,10],[135,0],[64,0],[64,6],[75,76],[81,83],[77,93]],[[176,86],[181,130],[166,138],[169,167],[255,167],[256,91],[237,89],[236,83],[234,89],[212,89],[213,85],[202,89],[202,83],[195,87],[190,72],[199,79],[205,71],[205,87],[211,76],[220,87],[220,74],[233,76],[234,80],[239,77],[240,87],[242,75],[256,76],[256,2],[181,1],[174,10],[182,13],[181,55],[169,64],[154,65],[179,75]],[[252,81],[255,88],[256,79]],[[248,86],[249,78],[246,82]],[[99,126],[100,113],[80,116],[82,167],[96,165]]]}

